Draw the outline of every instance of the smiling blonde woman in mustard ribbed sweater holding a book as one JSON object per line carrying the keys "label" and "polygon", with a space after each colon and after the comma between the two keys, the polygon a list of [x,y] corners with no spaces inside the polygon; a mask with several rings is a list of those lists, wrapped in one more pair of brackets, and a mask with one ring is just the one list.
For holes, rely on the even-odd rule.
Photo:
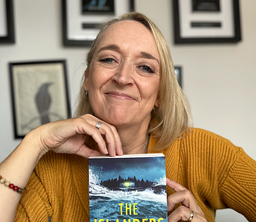
{"label": "smiling blonde woman in mustard ribbed sweater holding a book", "polygon": [[[210,222],[225,207],[256,220],[255,161],[190,127],[167,42],[153,22],[133,12],[106,23],[87,63],[78,117],[32,130],[1,163],[3,221],[89,221],[84,157],[107,153],[165,154],[168,221]],[[21,198],[23,190],[6,188],[5,178],[28,192]]]}

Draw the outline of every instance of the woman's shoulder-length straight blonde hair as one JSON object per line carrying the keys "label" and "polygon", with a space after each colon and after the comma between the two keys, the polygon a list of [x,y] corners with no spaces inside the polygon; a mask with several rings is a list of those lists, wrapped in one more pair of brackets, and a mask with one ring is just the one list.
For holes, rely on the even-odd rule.
{"label": "woman's shoulder-length straight blonde hair", "polygon": [[[163,34],[157,28],[157,25],[147,18],[147,16],[139,12],[126,13],[119,18],[113,18],[109,22],[106,22],[103,24],[102,29],[93,41],[93,45],[87,54],[87,69],[89,69],[89,66],[91,65],[93,55],[96,52],[96,47],[99,45],[101,39],[103,39],[106,29],[116,22],[126,20],[140,22],[145,25],[147,29],[152,32],[157,43],[157,49],[160,55],[160,107],[155,107],[151,112],[149,133],[159,139],[157,145],[154,146],[154,149],[162,150],[167,146],[170,146],[170,144],[173,143],[174,140],[177,140],[179,136],[185,132],[189,132],[190,126],[192,126],[192,118],[187,99],[177,82],[170,49]],[[82,82],[84,82],[84,75]],[[82,84],[76,116],[81,116],[86,113],[93,114],[93,110],[89,104],[89,99],[86,96]]]}

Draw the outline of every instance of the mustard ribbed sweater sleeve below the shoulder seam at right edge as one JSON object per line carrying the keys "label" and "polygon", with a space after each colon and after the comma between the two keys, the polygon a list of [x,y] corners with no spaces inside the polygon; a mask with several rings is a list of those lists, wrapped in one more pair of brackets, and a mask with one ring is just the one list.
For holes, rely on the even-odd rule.
{"label": "mustard ribbed sweater sleeve below the shoulder seam at right edge", "polygon": [[256,161],[241,148],[219,190],[227,207],[256,221]]}

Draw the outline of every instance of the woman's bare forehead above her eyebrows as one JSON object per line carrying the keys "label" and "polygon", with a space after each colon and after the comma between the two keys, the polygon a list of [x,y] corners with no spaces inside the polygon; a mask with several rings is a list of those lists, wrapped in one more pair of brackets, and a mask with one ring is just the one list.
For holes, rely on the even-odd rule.
{"label": "woman's bare forehead above her eyebrows", "polygon": [[159,57],[152,32],[140,22],[127,20],[110,25],[103,33],[97,48],[113,44],[143,51],[147,49],[147,52]]}

